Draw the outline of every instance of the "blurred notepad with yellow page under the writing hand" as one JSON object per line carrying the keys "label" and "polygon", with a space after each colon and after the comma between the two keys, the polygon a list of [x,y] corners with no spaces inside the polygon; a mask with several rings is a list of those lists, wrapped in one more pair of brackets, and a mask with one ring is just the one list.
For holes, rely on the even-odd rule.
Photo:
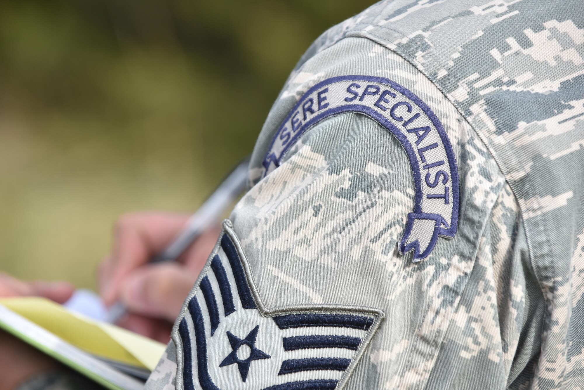
{"label": "blurred notepad with yellow page under the writing hand", "polygon": [[[56,336],[57,339],[62,340],[65,344],[71,344],[71,346],[105,361],[152,371],[166,347],[162,343],[118,326],[95,321],[84,315],[70,312],[61,305],[45,298],[2,298],[0,299],[0,304],[16,315],[38,325],[51,335]],[[0,312],[0,314],[2,313]],[[8,312],[5,315],[9,316]],[[0,326],[33,346],[51,354],[51,356],[58,358],[54,353],[51,353],[54,348],[48,345],[50,343],[47,342],[47,348],[50,351],[39,346],[39,343],[43,344],[43,337],[51,338],[47,336],[48,333],[33,332],[36,340],[31,342],[30,335],[19,332],[19,329],[14,329],[14,325],[11,325],[11,322],[1,315]],[[63,361],[68,364],[67,361]],[[78,369],[78,367],[74,368]],[[87,374],[87,372],[83,373]]]}

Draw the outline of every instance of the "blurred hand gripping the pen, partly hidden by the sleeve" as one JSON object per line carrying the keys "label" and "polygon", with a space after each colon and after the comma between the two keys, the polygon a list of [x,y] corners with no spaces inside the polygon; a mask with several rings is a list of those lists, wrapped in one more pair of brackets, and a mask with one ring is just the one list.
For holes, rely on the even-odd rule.
{"label": "blurred hand gripping the pen, partly hidden by the sleeve", "polygon": [[220,227],[207,229],[177,262],[148,261],[176,238],[189,217],[131,213],[117,221],[112,253],[100,265],[99,285],[106,305],[119,300],[128,308],[120,326],[168,342],[172,323],[213,250]]}

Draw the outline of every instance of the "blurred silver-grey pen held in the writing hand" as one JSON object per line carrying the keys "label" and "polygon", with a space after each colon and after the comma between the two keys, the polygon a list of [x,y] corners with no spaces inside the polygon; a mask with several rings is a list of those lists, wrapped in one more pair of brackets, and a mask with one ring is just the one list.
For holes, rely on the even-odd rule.
{"label": "blurred silver-grey pen held in the writing hand", "polygon": [[[217,189],[207,198],[186,222],[185,228],[161,253],[155,255],[150,260],[151,264],[172,262],[185,252],[189,245],[206,228],[221,217],[221,214],[229,207],[235,199],[245,189],[248,179],[249,156],[246,157],[229,176],[217,187]],[[116,323],[126,314],[126,307],[121,302],[116,302],[109,309],[107,322]]]}

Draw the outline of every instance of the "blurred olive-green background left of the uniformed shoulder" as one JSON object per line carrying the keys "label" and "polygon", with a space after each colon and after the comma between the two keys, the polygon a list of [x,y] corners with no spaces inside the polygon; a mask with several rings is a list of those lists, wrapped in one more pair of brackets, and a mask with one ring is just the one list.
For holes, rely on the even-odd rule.
{"label": "blurred olive-green background left of the uniformed shoulder", "polygon": [[116,218],[195,210],[312,40],[372,2],[0,2],[0,270],[95,288]]}

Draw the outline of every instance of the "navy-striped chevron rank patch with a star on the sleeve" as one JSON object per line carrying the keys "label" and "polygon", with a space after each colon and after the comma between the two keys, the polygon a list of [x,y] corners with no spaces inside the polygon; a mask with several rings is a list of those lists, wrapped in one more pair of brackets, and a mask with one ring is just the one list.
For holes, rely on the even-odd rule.
{"label": "navy-striped chevron rank patch with a star on the sleeve", "polygon": [[341,389],[383,313],[327,305],[267,312],[236,243],[225,228],[173,331],[177,388]]}

